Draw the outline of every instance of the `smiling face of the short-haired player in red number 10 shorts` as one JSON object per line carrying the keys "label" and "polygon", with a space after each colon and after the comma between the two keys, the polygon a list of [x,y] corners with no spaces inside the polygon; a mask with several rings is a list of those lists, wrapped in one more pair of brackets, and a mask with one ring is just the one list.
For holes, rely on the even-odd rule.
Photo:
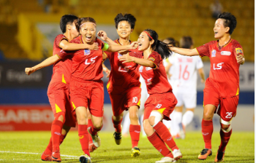
{"label": "smiling face of the short-haired player in red number 10 shorts", "polygon": [[118,23],[116,31],[119,37],[127,39],[127,37],[129,37],[129,35],[132,33],[132,28],[131,25],[124,20]]}

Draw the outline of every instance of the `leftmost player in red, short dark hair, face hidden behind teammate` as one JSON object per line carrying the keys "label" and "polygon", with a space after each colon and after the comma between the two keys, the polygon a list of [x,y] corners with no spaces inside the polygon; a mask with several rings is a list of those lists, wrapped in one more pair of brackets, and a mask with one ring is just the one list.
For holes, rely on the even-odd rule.
{"label": "leftmost player in red, short dark hair, face hidden behind teammate", "polygon": [[[59,145],[69,132],[70,127],[75,127],[75,117],[72,115],[72,107],[69,101],[69,81],[72,71],[70,57],[59,57],[61,50],[98,49],[96,44],[73,44],[70,40],[78,36],[75,23],[78,17],[64,15],[61,17],[60,28],[63,34],[56,36],[53,44],[53,56],[48,57],[42,63],[32,68],[26,68],[25,72],[30,75],[34,71],[48,65],[53,65],[53,76],[48,87],[48,98],[53,109],[54,120],[51,127],[51,138],[48,147],[42,153],[43,161],[61,162]],[[63,127],[63,130],[61,131]]]}

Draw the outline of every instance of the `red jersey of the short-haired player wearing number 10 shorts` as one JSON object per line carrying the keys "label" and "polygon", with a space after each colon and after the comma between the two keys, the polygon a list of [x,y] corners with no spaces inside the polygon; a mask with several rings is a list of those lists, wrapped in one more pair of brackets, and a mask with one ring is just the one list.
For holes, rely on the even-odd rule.
{"label": "red jersey of the short-haired player wearing number 10 shorts", "polygon": [[[115,41],[120,44],[118,39]],[[122,63],[118,52],[105,52],[110,60],[111,71],[108,80],[108,90],[114,94],[124,92],[130,87],[140,87],[139,65],[137,63]]]}

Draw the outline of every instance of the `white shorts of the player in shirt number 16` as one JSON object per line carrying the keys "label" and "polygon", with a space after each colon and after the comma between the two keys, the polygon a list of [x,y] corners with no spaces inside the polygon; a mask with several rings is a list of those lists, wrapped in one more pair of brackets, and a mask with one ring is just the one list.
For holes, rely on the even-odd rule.
{"label": "white shorts of the player in shirt number 16", "polygon": [[195,108],[197,106],[197,92],[186,92],[178,89],[173,91],[178,103],[176,106],[185,106],[185,108]]}

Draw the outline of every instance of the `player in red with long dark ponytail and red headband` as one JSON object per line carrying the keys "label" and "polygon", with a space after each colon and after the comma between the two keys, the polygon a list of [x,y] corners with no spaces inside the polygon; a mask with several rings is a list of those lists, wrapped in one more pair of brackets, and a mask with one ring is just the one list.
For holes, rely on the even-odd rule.
{"label": "player in red with long dark ponytail and red headband", "polygon": [[[170,114],[177,103],[162,64],[162,59],[170,56],[171,51],[167,44],[158,40],[156,31],[151,29],[140,33],[138,50],[142,52],[129,52],[128,55],[119,57],[119,60],[124,61],[123,63],[135,62],[141,65],[139,71],[146,81],[149,94],[145,103],[144,130],[152,145],[165,156],[158,162],[175,162],[182,154],[170,131],[162,123],[162,119],[170,120]],[[172,149],[173,154],[165,143]]]}

